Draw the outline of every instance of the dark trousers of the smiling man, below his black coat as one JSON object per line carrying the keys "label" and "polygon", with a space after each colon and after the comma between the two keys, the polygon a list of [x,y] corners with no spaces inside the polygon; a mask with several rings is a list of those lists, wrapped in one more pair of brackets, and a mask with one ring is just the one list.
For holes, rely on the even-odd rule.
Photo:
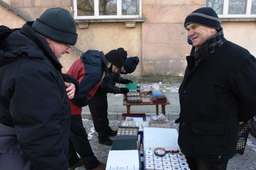
{"label": "dark trousers of the smiling man, below his black coat", "polygon": [[189,164],[190,170],[226,170],[227,162],[229,161],[229,159],[204,160],[191,156],[186,156],[186,160]]}

